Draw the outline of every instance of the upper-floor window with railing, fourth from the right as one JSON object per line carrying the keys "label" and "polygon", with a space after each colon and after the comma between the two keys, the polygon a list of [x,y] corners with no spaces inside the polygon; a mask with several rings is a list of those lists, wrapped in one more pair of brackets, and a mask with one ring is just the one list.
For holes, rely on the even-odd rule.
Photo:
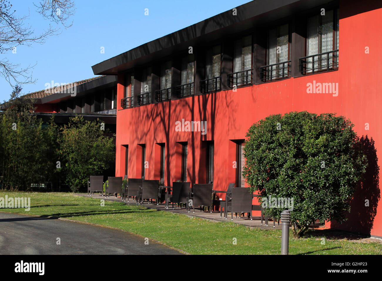
{"label": "upper-floor window with railing, fourth from the right", "polygon": [[206,80],[201,81],[201,92],[209,93],[220,90],[221,48],[217,45],[206,54]]}

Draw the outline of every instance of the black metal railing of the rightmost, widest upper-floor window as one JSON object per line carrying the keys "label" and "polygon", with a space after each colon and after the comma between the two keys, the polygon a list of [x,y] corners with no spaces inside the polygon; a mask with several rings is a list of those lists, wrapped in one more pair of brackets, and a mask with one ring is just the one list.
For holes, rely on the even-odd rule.
{"label": "black metal railing of the rightmost, widest upper-floor window", "polygon": [[320,71],[335,70],[337,68],[338,50],[299,58],[299,71],[304,75]]}

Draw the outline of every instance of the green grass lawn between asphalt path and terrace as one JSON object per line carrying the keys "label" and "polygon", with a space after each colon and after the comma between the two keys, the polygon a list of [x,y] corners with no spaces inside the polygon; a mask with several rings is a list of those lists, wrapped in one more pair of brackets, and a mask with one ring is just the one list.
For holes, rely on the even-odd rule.
{"label": "green grass lawn between asphalt path and terrace", "polygon": [[[1,209],[8,213],[55,216],[85,223],[116,227],[149,237],[191,254],[280,254],[281,231],[251,229],[231,222],[211,222],[182,214],[148,210],[120,202],[80,197],[71,193],[6,192],[0,197],[30,197],[31,210]],[[322,232],[320,232],[322,235]],[[321,244],[314,232],[307,239],[293,239],[290,232],[290,254],[359,255],[382,253],[382,243],[359,243],[325,240]],[[237,244],[233,244],[236,238]],[[143,238],[142,238],[143,240]]]}

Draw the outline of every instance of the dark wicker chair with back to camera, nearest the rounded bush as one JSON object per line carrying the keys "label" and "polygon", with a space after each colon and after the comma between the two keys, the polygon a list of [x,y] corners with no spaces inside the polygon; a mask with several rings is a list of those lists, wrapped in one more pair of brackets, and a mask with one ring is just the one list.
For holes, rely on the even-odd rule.
{"label": "dark wicker chair with back to camera, nearest the rounded bush", "polygon": [[[253,192],[247,187],[233,187],[232,195],[226,196],[224,218],[227,219],[228,211],[231,211],[231,221],[233,221],[233,213],[249,213],[252,221],[252,199]],[[240,218],[240,216],[239,216]]]}

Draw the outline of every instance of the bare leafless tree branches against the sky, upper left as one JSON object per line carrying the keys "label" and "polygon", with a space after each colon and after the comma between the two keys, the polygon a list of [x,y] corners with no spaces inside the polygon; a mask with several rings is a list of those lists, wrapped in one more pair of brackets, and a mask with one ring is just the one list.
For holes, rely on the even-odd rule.
{"label": "bare leafless tree branches against the sky, upper left", "polygon": [[[74,2],[71,0],[43,0],[38,5],[37,12],[43,18],[59,24],[65,28],[70,27],[68,19],[74,15]],[[40,34],[35,34],[25,21],[28,16],[18,16],[13,10],[10,1],[0,0],[0,54],[17,51],[19,45],[31,46],[32,43],[42,44],[47,37],[59,34],[59,28],[49,27]],[[16,84],[34,83],[31,70],[34,65],[21,68],[21,65],[10,62],[7,58],[0,60],[0,76],[4,77],[11,86]]]}

